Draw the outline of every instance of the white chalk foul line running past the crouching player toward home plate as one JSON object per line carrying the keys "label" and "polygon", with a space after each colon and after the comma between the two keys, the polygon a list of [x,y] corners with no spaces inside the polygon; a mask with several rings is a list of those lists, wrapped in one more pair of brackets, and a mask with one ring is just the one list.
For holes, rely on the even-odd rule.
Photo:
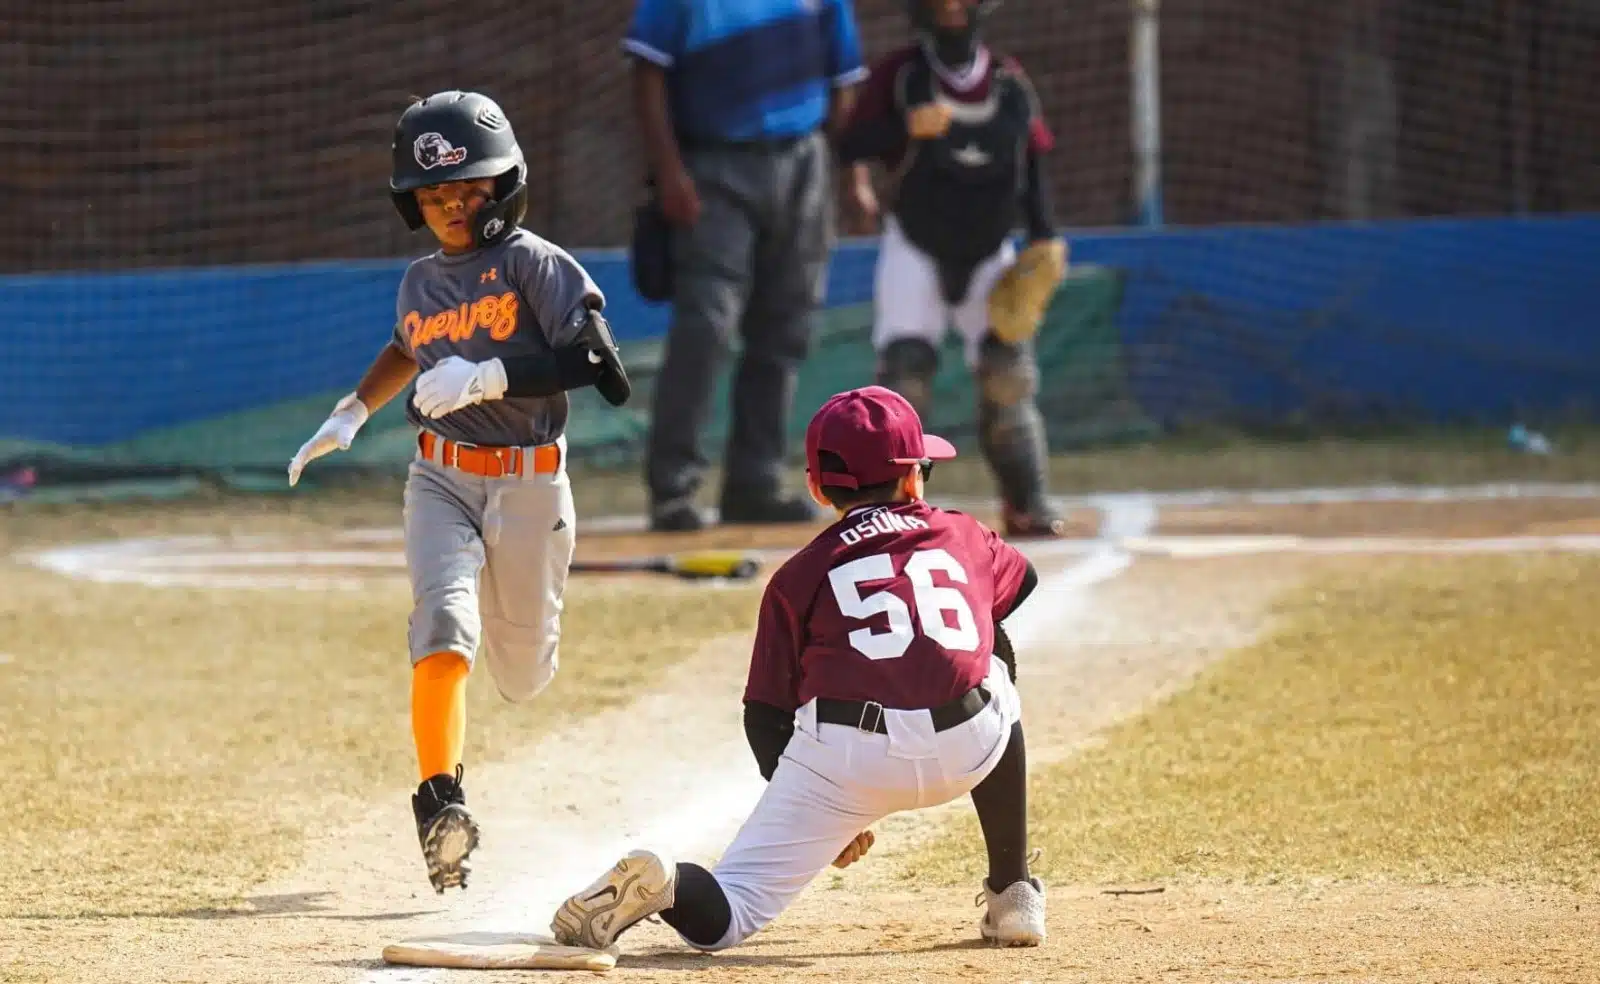
{"label": "white chalk foul line running past the crouching player toward home plate", "polygon": [[[1059,638],[1075,613],[1082,611],[1085,589],[1115,578],[1131,563],[1117,541],[1139,536],[1155,523],[1155,509],[1136,498],[1106,501],[1102,507],[1101,530],[1107,539],[1066,568],[1042,576],[1034,595],[1006,619],[1011,640],[1019,650]],[[1037,562],[1067,554],[1061,544],[1050,542],[1026,544],[1024,549]],[[651,714],[648,706],[659,699],[643,698],[635,706],[637,712]],[[674,707],[654,712],[683,714]],[[550,744],[554,749],[560,741]],[[656,762],[648,774],[648,786],[619,784],[616,800],[598,816],[579,816],[568,830],[541,830],[538,837],[544,843],[525,843],[520,851],[502,856],[501,862],[514,864],[514,870],[499,872],[485,894],[474,894],[470,904],[445,917],[448,925],[434,926],[427,933],[544,933],[562,899],[632,848],[661,848],[677,858],[715,856],[738,832],[765,786],[750,768],[749,750],[736,734],[720,739],[710,749],[698,749],[693,755]],[[592,832],[600,837],[595,838]],[[562,840],[563,835],[566,840]],[[410,984],[440,981],[446,973],[450,971],[378,968],[368,971],[363,981]]]}

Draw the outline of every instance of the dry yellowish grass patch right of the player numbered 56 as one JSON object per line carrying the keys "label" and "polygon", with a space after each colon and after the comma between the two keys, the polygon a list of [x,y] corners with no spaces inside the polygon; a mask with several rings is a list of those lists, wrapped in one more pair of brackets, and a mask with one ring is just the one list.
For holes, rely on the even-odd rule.
{"label": "dry yellowish grass patch right of the player numbered 56", "polygon": [[[1474,878],[1600,872],[1600,560],[1334,574],[1267,640],[1032,781],[1042,872]],[[915,858],[970,882],[963,816]]]}

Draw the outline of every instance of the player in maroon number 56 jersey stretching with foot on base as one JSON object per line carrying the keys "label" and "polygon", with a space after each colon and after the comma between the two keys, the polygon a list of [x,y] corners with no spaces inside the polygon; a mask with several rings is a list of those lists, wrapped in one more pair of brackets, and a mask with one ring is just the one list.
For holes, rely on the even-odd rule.
{"label": "player in maroon number 56 jersey stretching with foot on base", "polygon": [[550,923],[565,944],[606,947],[661,914],[696,949],[731,947],[829,862],[864,854],[880,818],[966,794],[989,848],[984,939],[1045,939],[1000,629],[1034,568],[978,520],[923,501],[933,462],[955,450],[893,390],[830,398],[805,445],[811,494],[838,522],[762,598],[744,730],[766,792],[715,870],[634,851],[566,899]]}

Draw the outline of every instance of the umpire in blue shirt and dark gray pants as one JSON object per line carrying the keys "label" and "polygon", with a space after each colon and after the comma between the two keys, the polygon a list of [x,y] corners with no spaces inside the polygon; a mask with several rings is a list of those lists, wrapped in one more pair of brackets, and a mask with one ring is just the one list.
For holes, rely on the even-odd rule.
{"label": "umpire in blue shirt and dark gray pants", "polygon": [[637,0],[622,48],[670,229],[672,326],[645,466],[651,528],[701,525],[701,432],[734,338],[722,518],[810,520],[810,501],[782,491],[782,470],[834,242],[827,131],[866,77],[851,2]]}

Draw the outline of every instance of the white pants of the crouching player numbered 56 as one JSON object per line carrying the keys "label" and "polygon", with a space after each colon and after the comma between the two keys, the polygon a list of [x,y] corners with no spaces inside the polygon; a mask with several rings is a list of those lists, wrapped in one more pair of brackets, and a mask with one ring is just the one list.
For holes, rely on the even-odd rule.
{"label": "white pants of the crouching player numbered 56", "polygon": [[795,712],[766,792],[712,875],[728,896],[728,933],[706,950],[731,947],[784,909],[845,845],[891,813],[965,797],[1005,755],[1022,707],[1005,664],[989,667],[990,701],[970,722],[934,731],[926,710],[885,710],[888,734],[819,725],[816,704]]}

